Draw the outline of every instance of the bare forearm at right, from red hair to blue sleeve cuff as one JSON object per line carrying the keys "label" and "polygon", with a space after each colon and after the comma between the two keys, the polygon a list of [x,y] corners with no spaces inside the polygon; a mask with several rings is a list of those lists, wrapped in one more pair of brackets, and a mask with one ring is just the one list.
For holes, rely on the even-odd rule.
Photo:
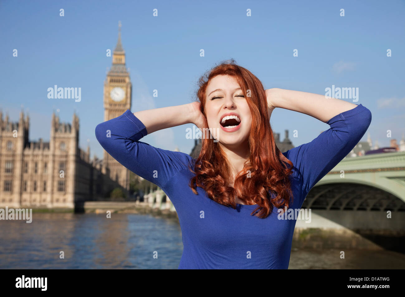
{"label": "bare forearm at right, from red hair to blue sleeve cuff", "polygon": [[326,123],[328,120],[356,107],[356,104],[340,99],[307,92],[271,88],[266,90],[269,114],[275,107],[301,112]]}

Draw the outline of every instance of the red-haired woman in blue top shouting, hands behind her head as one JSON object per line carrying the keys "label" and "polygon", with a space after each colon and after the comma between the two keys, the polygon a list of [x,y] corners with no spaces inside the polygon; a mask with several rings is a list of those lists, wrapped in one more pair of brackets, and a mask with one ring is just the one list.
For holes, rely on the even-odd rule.
{"label": "red-haired woman in blue top shouting, hands behind her head", "polygon": [[[311,188],[360,141],[371,112],[324,95],[264,90],[233,60],[202,76],[197,96],[199,102],[127,110],[98,124],[96,137],[173,202],[184,246],[180,269],[287,269],[296,219],[279,219],[278,209],[301,208]],[[313,116],[330,129],[281,153],[269,122],[277,107]],[[197,159],[139,141],[187,123],[212,132]]]}

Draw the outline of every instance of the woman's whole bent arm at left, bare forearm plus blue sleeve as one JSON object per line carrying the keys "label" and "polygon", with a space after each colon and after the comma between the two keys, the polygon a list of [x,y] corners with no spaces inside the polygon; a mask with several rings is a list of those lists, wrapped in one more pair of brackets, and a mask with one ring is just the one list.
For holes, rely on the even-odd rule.
{"label": "woman's whole bent arm at left, bare forearm plus blue sleeve", "polygon": [[139,140],[164,128],[189,122],[201,125],[200,114],[195,108],[198,104],[193,102],[135,113],[126,110],[121,116],[98,124],[96,138],[115,160],[163,189],[178,171],[188,168],[192,158],[188,154],[163,150]]}

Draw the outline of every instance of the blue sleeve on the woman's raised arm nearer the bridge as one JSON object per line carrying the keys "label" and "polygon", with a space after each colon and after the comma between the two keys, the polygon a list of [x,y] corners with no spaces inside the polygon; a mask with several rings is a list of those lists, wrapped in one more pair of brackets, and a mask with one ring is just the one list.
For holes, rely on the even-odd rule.
{"label": "blue sleeve on the woman's raised arm nearer the bridge", "polygon": [[283,153],[293,163],[294,175],[300,183],[300,205],[311,188],[356,146],[370,122],[370,110],[359,104],[328,120],[326,123],[330,128],[311,142]]}

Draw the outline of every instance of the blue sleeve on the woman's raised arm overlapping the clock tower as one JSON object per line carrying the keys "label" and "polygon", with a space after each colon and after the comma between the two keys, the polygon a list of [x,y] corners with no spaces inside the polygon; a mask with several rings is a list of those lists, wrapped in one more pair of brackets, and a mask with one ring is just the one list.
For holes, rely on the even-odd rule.
{"label": "blue sleeve on the woman's raised arm overlapping the clock tower", "polygon": [[164,188],[173,175],[194,160],[188,154],[153,147],[139,141],[145,125],[130,110],[96,126],[96,138],[115,160],[144,179]]}

